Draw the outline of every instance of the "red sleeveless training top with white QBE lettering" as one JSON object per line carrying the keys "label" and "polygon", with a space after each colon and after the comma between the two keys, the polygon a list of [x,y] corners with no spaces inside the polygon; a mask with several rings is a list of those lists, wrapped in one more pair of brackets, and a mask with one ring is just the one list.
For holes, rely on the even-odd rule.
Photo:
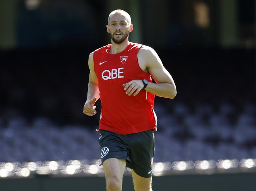
{"label": "red sleeveless training top with white QBE lettering", "polygon": [[130,42],[117,54],[109,54],[111,44],[94,51],[94,70],[102,106],[99,129],[122,135],[156,130],[154,95],[143,89],[136,96],[128,96],[122,86],[131,80],[152,82],[150,74],[139,67],[137,53],[141,46]]}

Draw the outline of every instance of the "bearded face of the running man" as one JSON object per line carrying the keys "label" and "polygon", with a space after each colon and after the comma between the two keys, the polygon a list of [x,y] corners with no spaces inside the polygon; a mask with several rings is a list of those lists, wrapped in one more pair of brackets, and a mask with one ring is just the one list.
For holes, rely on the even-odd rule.
{"label": "bearded face of the running man", "polygon": [[124,15],[115,13],[109,18],[109,36],[116,44],[121,44],[129,35],[129,23]]}

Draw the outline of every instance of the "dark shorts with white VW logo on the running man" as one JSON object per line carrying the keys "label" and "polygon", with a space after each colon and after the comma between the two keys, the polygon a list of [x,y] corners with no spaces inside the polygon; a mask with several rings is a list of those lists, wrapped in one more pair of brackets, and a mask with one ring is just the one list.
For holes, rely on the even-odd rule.
{"label": "dark shorts with white VW logo on the running man", "polygon": [[139,176],[149,178],[152,176],[154,141],[152,129],[128,135],[100,129],[101,162],[103,164],[108,158],[126,159],[126,167]]}

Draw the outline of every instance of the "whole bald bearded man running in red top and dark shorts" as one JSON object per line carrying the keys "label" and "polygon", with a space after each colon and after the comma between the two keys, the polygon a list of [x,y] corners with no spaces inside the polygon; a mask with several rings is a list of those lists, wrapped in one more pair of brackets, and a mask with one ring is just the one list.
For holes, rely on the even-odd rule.
{"label": "whole bald bearded man running in red top and dark shorts", "polygon": [[83,113],[95,115],[100,98],[99,143],[107,191],[122,190],[125,167],[132,171],[135,191],[152,191],[154,96],[173,99],[176,86],[154,49],[128,41],[133,30],[128,13],[111,12],[106,28],[111,44],[89,55]]}

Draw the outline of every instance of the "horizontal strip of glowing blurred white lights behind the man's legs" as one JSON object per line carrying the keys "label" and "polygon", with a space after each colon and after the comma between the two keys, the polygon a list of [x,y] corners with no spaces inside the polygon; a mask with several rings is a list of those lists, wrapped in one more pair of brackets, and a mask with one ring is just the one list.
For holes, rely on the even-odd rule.
{"label": "horizontal strip of glowing blurred white lights behind the man's legs", "polygon": [[[100,166],[101,160],[68,160],[65,161],[45,161],[45,162],[0,162],[0,177],[13,177],[22,176],[28,177],[31,174],[35,175],[49,175],[55,174],[61,176],[61,174],[74,175],[82,173],[88,175],[103,175],[103,167]],[[182,173],[184,171],[191,170],[195,167],[194,172],[199,173],[213,173],[216,171],[225,172],[229,169],[236,168],[240,165],[240,171],[249,171],[252,169],[255,171],[256,159],[243,158],[238,162],[236,159],[226,160],[197,160],[193,161],[174,161],[171,162],[155,162],[153,163],[152,173],[154,176],[162,176],[172,173]],[[217,167],[217,168],[216,168]],[[211,169],[211,171],[209,171]],[[239,169],[237,169],[239,170]],[[32,171],[35,171],[32,173]],[[192,171],[191,171],[192,172]],[[130,175],[130,171],[129,171]]]}

